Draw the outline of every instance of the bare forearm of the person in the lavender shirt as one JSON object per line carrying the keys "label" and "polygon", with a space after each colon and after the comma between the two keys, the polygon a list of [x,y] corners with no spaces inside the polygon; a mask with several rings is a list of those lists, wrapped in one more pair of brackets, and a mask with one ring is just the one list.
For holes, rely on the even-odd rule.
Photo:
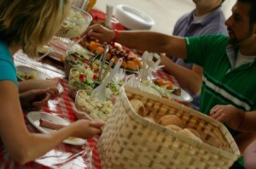
{"label": "bare forearm of the person in the lavender shirt", "polygon": [[163,69],[172,76],[175,76],[181,87],[195,94],[200,93],[202,81],[201,66],[193,65],[192,70],[189,70],[172,62],[172,60],[168,59],[165,55],[161,57],[161,64],[166,65]]}

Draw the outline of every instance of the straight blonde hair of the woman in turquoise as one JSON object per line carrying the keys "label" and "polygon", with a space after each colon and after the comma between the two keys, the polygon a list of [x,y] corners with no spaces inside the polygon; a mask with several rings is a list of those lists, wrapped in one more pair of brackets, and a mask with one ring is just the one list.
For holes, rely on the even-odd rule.
{"label": "straight blonde hair of the woman in turquoise", "polygon": [[70,0],[0,0],[0,40],[36,58],[70,10]]}

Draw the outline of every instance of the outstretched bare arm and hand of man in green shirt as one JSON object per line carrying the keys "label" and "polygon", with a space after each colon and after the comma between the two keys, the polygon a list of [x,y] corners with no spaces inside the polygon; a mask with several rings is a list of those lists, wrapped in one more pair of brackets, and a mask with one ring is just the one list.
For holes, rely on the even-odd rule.
{"label": "outstretched bare arm and hand of man in green shirt", "polygon": [[[102,25],[92,25],[84,33],[91,29],[93,32],[90,33],[90,36],[102,42],[111,42],[115,37],[114,31]],[[166,55],[177,56],[182,59],[187,57],[186,43],[183,37],[167,36],[153,31],[119,31],[119,37],[116,40],[129,48],[166,53]]]}

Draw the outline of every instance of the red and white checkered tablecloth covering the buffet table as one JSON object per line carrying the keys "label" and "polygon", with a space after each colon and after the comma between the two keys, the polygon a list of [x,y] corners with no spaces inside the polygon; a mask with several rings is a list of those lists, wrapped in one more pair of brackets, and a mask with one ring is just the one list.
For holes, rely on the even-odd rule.
{"label": "red and white checkered tablecloth covering the buffet table", "polygon": [[[41,62],[29,59],[26,54],[19,51],[14,57],[15,65],[26,65],[34,69],[40,70],[52,77],[61,77],[61,86],[64,88],[63,93],[55,99],[49,100],[48,104],[41,111],[49,114],[60,116],[67,121],[75,121],[75,110],[73,109],[73,99],[69,97],[69,87],[67,76],[63,70],[63,64],[44,58]],[[154,72],[154,77],[160,77],[174,84],[177,81],[173,76],[167,75],[164,71],[158,70]],[[27,111],[24,111],[27,128],[30,132],[39,132],[27,120]],[[101,168],[101,163],[96,150],[98,137],[87,140],[87,143],[81,146],[70,144],[59,144],[55,149],[50,150],[44,156],[36,161],[20,166],[15,163],[9,156],[7,150],[0,144],[0,168]]]}

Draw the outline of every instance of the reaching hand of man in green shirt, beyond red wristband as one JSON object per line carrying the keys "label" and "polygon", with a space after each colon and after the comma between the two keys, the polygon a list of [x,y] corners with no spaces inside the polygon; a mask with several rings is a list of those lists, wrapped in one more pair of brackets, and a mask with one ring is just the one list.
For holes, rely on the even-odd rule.
{"label": "reaching hand of man in green shirt, beyond red wristband", "polygon": [[[93,31],[88,33],[90,30]],[[100,42],[111,42],[113,41],[114,37],[113,30],[109,30],[108,28],[98,24],[89,26],[88,29],[84,32],[84,35],[87,33],[88,36],[94,37],[98,39]]]}

